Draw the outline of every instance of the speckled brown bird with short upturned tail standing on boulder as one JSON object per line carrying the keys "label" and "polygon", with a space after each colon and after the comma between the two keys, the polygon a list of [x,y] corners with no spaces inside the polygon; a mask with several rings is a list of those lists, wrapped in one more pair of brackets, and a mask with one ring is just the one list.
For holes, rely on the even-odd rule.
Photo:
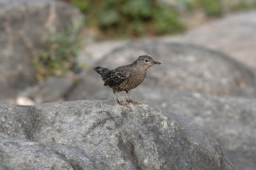
{"label": "speckled brown bird with short upturned tail standing on boulder", "polygon": [[101,79],[104,80],[104,86],[109,86],[112,88],[114,95],[117,97],[117,102],[119,105],[127,105],[121,103],[117,93],[125,91],[129,100],[126,98],[128,103],[138,103],[131,100],[129,91],[133,88],[139,86],[146,76],[147,69],[152,65],[159,65],[160,62],[155,61],[150,56],[139,56],[136,61],[130,65],[125,65],[117,67],[114,70],[110,70],[101,66],[97,66],[94,70],[101,75]]}

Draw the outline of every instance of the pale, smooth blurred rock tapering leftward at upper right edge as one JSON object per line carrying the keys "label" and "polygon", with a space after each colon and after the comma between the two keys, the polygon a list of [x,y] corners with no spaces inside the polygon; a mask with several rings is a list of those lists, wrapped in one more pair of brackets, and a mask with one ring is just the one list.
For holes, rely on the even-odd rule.
{"label": "pale, smooth blurred rock tapering leftward at upper right edge", "polygon": [[180,36],[166,36],[162,41],[202,45],[224,52],[256,69],[256,10],[229,14]]}

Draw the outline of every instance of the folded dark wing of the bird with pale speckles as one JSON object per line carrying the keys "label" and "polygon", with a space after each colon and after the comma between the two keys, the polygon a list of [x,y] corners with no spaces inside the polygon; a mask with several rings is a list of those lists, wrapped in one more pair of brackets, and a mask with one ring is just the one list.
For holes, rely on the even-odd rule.
{"label": "folded dark wing of the bird with pale speckles", "polygon": [[104,86],[118,85],[129,76],[129,71],[115,69],[105,80]]}

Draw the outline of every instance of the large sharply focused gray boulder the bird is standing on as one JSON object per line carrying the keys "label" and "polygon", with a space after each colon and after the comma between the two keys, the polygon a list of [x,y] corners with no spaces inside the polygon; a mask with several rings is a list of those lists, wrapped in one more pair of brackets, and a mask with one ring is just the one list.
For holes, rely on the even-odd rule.
{"label": "large sharply focused gray boulder the bird is standing on", "polygon": [[5,169],[234,169],[201,126],[149,105],[86,100],[0,113]]}

